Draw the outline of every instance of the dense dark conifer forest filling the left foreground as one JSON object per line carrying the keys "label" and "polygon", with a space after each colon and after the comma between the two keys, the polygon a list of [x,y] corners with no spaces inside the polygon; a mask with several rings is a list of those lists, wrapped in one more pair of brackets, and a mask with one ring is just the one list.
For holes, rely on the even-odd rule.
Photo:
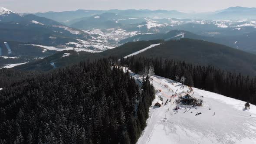
{"label": "dense dark conifer forest filling the left foreground", "polygon": [[35,74],[0,91],[0,144],[135,144],[153,99],[107,59]]}

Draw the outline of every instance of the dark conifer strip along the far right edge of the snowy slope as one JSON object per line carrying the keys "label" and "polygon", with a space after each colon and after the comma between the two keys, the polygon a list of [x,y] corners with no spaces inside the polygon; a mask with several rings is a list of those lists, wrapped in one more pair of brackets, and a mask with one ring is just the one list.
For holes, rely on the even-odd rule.
{"label": "dark conifer strip along the far right edge of the snowy slope", "polygon": [[148,74],[148,69],[145,71],[145,67],[153,67],[155,75],[177,82],[181,82],[184,77],[185,85],[256,104],[256,77],[251,78],[240,73],[223,71],[210,65],[193,65],[173,59],[133,56],[122,59],[121,63],[128,64],[129,68],[136,73]]}

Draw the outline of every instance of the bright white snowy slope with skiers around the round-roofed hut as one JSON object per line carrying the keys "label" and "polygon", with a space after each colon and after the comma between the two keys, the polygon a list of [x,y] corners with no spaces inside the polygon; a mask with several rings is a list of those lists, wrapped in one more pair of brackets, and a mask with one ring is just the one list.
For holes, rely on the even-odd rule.
{"label": "bright white snowy slope with skiers around the round-roofed hut", "polygon": [[[135,79],[142,79],[132,72],[131,75]],[[176,113],[173,101],[178,96],[172,95],[175,92],[187,92],[189,87],[182,88],[181,83],[156,75],[151,78],[151,83],[161,92],[156,93],[147,127],[138,144],[256,144],[255,105],[250,104],[250,110],[244,110],[245,101],[193,88],[190,95],[202,99],[203,106],[190,110],[187,107],[188,111],[185,112],[185,106],[180,105]],[[164,103],[167,98],[171,98],[171,102],[157,108],[154,104],[159,101],[158,96],[163,97]],[[197,112],[202,114],[195,116]]]}

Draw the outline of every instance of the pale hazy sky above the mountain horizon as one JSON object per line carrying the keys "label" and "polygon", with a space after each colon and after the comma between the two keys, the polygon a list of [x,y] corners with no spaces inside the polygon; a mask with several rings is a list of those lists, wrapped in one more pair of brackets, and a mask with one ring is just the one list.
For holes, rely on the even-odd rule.
{"label": "pale hazy sky above the mountain horizon", "polygon": [[204,12],[236,6],[256,7],[256,0],[0,0],[0,7],[19,13],[78,9],[160,9]]}

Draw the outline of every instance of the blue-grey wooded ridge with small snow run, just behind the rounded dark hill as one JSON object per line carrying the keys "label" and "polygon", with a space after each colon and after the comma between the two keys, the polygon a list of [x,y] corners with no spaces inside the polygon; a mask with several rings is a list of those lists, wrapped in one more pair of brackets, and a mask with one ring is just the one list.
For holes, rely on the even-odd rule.
{"label": "blue-grey wooded ridge with small snow run, just behind the rounded dark hill", "polygon": [[121,40],[119,43],[153,40],[153,39],[164,39],[165,41],[174,39],[198,39],[203,41],[209,41],[213,43],[219,43],[226,46],[240,49],[246,52],[256,53],[256,32],[232,35],[232,36],[202,36],[197,35],[185,30],[171,30],[168,33],[154,33],[154,34],[139,34],[127,39]]}

